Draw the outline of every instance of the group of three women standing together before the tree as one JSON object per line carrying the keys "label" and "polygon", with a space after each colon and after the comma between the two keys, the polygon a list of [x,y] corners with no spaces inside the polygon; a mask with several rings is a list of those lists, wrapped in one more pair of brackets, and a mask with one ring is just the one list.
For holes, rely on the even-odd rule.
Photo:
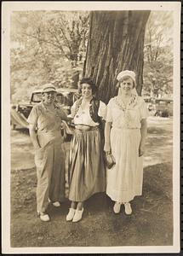
{"label": "group of three women standing together before the tree", "polygon": [[[69,200],[67,221],[77,222],[83,216],[83,203],[91,195],[105,192],[115,201],[113,210],[120,212],[124,204],[131,214],[130,201],[142,194],[143,154],[148,111],[135,90],[135,73],[129,70],[117,75],[118,95],[107,105],[94,97],[96,86],[91,79],[82,79],[82,97],[71,107],[75,125],[71,139],[69,164]],[[52,84],[43,89],[43,102],[32,108],[31,140],[36,149],[37,212],[43,221],[49,200],[60,206],[65,195],[65,153],[60,135],[66,113],[55,104],[56,90]],[[106,119],[105,145],[101,122]],[[112,153],[116,165],[106,170],[103,150]]]}

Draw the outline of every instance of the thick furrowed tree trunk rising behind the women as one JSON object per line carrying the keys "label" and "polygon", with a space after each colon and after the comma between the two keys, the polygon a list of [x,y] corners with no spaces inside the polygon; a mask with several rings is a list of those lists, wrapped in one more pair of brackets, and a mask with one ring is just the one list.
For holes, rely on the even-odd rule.
{"label": "thick furrowed tree trunk rising behind the women", "polygon": [[117,93],[117,73],[136,73],[137,91],[143,83],[143,49],[150,11],[94,11],[90,14],[89,43],[83,76],[91,77],[100,99],[108,102]]}

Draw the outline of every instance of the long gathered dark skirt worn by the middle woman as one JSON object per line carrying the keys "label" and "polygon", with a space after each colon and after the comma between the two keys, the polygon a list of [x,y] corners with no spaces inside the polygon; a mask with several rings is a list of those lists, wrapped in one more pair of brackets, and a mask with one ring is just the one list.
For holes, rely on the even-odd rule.
{"label": "long gathered dark skirt worn by the middle woman", "polygon": [[95,193],[106,191],[102,152],[98,127],[90,131],[75,131],[69,164],[70,201],[85,201]]}

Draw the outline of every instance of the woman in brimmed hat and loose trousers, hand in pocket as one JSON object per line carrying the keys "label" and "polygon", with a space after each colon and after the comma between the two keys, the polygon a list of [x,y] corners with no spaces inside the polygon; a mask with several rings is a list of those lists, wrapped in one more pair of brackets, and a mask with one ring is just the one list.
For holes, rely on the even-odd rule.
{"label": "woman in brimmed hat and loose trousers, hand in pocket", "polygon": [[43,102],[31,109],[28,118],[31,141],[35,148],[37,167],[37,214],[49,221],[47,207],[51,201],[60,207],[65,199],[65,150],[61,136],[66,113],[55,103],[56,90],[52,84],[43,87]]}

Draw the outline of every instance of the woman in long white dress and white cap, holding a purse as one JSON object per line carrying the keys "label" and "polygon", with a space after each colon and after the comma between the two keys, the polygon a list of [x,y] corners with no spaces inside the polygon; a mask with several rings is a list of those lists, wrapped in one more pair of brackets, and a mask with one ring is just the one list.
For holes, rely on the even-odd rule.
{"label": "woman in long white dress and white cap, holding a purse", "polygon": [[106,171],[106,194],[115,201],[113,210],[131,214],[129,201],[142,195],[143,154],[146,140],[146,103],[135,90],[135,73],[125,70],[117,75],[118,94],[107,105],[105,147],[116,165]]}

